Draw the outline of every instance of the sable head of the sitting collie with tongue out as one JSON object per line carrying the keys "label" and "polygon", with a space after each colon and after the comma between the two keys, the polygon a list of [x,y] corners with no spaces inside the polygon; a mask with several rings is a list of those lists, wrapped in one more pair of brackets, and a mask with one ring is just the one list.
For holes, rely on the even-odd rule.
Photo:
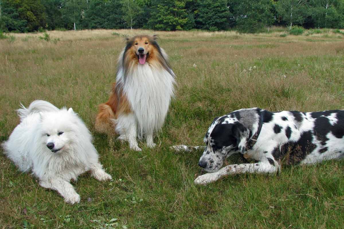
{"label": "sable head of the sitting collie with tongue out", "polygon": [[157,39],[157,35],[137,35],[126,38],[127,44],[119,59],[119,70],[123,69],[126,75],[129,69],[148,64],[157,69],[165,69],[174,77],[168,64],[168,57],[160,48]]}

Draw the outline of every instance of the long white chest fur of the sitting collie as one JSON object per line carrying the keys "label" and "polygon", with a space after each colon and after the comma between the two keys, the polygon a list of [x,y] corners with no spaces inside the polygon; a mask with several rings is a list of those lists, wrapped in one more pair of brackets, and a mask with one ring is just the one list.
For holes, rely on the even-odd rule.
{"label": "long white chest fur of the sitting collie", "polygon": [[[117,79],[122,77],[119,74]],[[163,68],[155,68],[148,63],[133,67],[124,82],[123,92],[137,118],[139,138],[162,127],[174,93],[174,82],[174,78]]]}

